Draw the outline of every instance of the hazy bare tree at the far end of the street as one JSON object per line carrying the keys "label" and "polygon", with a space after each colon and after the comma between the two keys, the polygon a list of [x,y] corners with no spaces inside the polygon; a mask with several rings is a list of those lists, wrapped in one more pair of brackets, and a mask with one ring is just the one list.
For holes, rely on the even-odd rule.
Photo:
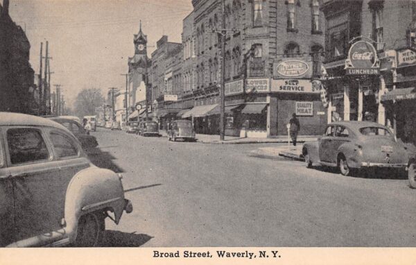
{"label": "hazy bare tree at the far end of the street", "polygon": [[73,112],[78,117],[84,117],[87,115],[95,115],[96,108],[102,106],[104,103],[103,94],[101,89],[88,88],[83,89],[76,96]]}

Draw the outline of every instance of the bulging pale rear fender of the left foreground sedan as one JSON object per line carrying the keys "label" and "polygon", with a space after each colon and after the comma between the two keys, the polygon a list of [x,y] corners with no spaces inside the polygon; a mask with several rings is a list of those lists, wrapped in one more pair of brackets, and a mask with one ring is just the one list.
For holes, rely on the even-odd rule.
{"label": "bulging pale rear fender of the left foreground sedan", "polygon": [[89,167],[73,176],[65,196],[64,218],[69,240],[76,238],[80,216],[111,210],[119,223],[125,205],[121,178],[108,169]]}

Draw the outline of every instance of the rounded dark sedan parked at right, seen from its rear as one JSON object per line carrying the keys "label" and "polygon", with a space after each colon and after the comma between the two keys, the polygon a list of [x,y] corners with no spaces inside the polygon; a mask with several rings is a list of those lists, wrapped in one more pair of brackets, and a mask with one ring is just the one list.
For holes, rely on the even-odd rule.
{"label": "rounded dark sedan parked at right, seen from its rear", "polygon": [[306,166],[337,166],[348,176],[354,169],[370,167],[405,169],[408,153],[395,135],[379,123],[340,121],[330,123],[316,142],[302,147]]}

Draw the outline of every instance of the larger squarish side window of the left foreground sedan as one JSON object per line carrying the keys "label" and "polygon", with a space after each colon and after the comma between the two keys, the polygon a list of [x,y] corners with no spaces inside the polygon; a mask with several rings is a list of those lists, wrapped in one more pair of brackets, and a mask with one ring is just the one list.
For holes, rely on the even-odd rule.
{"label": "larger squarish side window of the left foreground sedan", "polygon": [[9,129],[7,143],[12,164],[47,160],[50,157],[40,130],[32,128]]}

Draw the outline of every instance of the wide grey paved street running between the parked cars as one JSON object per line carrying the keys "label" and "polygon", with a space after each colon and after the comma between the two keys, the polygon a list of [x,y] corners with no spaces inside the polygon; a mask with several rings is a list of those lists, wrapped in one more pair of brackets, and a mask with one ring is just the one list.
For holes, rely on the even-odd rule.
{"label": "wide grey paved street running between the parked cars", "polygon": [[168,142],[99,128],[92,160],[123,173],[134,212],[101,246],[416,246],[405,179],[249,156],[279,144]]}

